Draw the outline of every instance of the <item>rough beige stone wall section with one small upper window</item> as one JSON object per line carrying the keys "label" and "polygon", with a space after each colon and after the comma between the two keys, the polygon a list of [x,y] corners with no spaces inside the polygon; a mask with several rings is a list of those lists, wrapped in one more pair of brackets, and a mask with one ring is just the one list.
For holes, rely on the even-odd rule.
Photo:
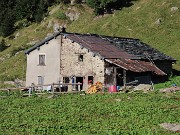
{"label": "rough beige stone wall section with one small upper window", "polygon": [[[88,87],[88,76],[94,77],[94,83],[104,83],[104,60],[91,51],[83,48],[68,38],[63,38],[61,47],[61,70],[62,77],[83,77],[83,89]],[[83,61],[79,60],[80,55]]]}

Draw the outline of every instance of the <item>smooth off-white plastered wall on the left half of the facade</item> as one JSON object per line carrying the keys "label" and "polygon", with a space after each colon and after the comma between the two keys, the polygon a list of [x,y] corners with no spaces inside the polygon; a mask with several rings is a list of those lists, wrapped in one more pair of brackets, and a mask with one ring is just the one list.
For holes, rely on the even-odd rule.
{"label": "smooth off-white plastered wall on the left half of the facade", "polygon": [[[44,77],[44,84],[57,83],[60,78],[61,36],[27,54],[26,86],[37,85],[38,76]],[[45,66],[38,65],[39,54],[45,54]]]}

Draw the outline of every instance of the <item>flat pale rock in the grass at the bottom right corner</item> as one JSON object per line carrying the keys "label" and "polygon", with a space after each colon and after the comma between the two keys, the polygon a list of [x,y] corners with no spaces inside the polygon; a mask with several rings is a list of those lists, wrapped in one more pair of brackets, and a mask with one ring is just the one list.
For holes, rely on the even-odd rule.
{"label": "flat pale rock in the grass at the bottom right corner", "polygon": [[180,124],[162,123],[160,126],[169,131],[180,132]]}

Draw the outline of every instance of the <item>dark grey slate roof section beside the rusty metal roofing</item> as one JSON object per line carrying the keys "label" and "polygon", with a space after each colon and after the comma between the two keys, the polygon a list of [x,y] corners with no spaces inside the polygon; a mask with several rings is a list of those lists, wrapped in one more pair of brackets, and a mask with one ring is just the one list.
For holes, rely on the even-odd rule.
{"label": "dark grey slate roof section beside the rusty metal roofing", "polygon": [[150,47],[148,44],[143,43],[139,39],[133,38],[120,38],[120,37],[109,37],[103,36],[105,40],[114,43],[118,48],[125,50],[129,54],[133,54],[141,59],[152,59],[152,60],[170,60],[176,61],[174,58],[158,51],[155,48]]}

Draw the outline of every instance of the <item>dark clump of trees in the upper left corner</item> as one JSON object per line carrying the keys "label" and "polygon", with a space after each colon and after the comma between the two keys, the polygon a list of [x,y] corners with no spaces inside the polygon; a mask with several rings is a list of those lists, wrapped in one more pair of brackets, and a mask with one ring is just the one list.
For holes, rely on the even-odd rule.
{"label": "dark clump of trees in the upper left corner", "polygon": [[46,15],[48,2],[53,0],[1,0],[0,2],[0,36],[9,36],[20,20],[40,22]]}

